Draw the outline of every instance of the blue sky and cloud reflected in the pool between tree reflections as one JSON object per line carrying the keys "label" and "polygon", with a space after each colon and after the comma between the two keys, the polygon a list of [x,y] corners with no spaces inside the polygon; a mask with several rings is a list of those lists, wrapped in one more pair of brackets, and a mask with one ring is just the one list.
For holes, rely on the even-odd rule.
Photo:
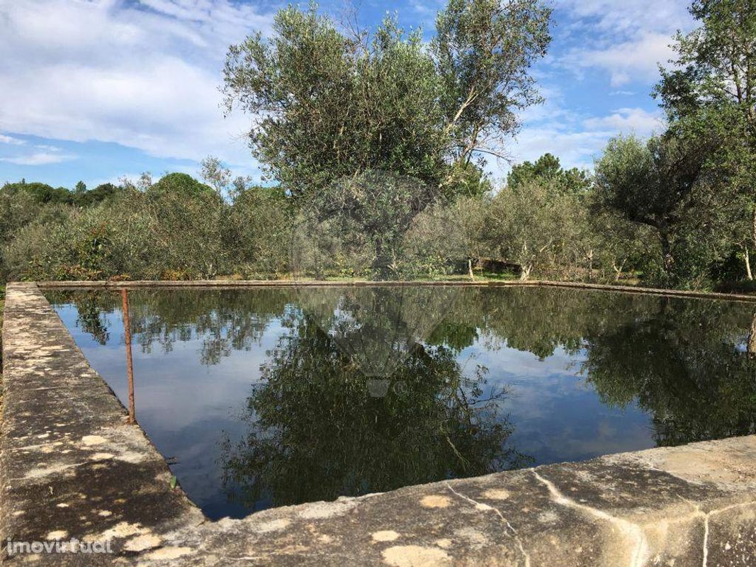
{"label": "blue sky and cloud reflected in the pool between tree reflections", "polygon": [[[138,301],[134,294],[132,308]],[[58,305],[56,310],[91,366],[125,402],[125,346],[119,311],[101,315],[109,333],[107,343],[101,345],[79,326],[75,305]],[[282,319],[300,315],[291,303],[276,316],[268,314],[258,341],[249,343],[248,349],[228,349],[218,364],[212,365],[200,364],[203,346],[212,338],[209,331],[197,336],[196,327],[191,326],[188,338],[173,341],[167,351],[157,340],[143,350],[141,336],[135,333],[133,337],[138,422],[166,458],[175,457],[171,468],[181,486],[210,517],[246,513],[239,504],[228,503],[222,491],[222,442],[225,438],[237,442],[249,432],[249,415],[245,420],[243,414],[251,386],[260,383],[261,365],[271,362],[271,350],[291,331],[290,325],[283,327]],[[246,317],[251,317],[249,312]],[[358,321],[355,327],[359,327]],[[228,328],[220,328],[227,336]],[[157,333],[157,338],[160,336]],[[485,328],[478,329],[476,336],[456,355],[461,372],[472,377],[478,367],[485,367],[486,383],[480,398],[506,390],[506,398],[496,403],[500,416],[513,428],[507,442],[531,457],[531,464],[581,460],[655,445],[652,417],[636,399],[626,407],[600,401],[582,372],[585,349],[573,354],[558,346],[541,359],[510,348],[506,340],[492,339]],[[404,360],[404,355],[399,359]],[[264,499],[261,503],[270,505]]]}

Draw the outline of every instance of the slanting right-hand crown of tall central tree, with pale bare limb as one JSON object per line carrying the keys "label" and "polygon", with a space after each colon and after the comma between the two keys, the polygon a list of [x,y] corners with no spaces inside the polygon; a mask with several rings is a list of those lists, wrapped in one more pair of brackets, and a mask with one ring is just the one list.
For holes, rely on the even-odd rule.
{"label": "slanting right-hand crown of tall central tree, with pale bare limb", "polygon": [[449,0],[436,17],[432,52],[457,163],[506,156],[517,113],[541,102],[529,70],[551,41],[550,15],[537,0]]}

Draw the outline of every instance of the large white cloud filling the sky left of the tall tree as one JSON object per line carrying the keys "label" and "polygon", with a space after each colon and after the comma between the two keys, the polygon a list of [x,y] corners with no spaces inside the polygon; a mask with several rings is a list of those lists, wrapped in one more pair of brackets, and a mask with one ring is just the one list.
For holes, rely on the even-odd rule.
{"label": "large white cloud filling the sky left of the tall tree", "polygon": [[230,0],[0,0],[0,124],[250,163],[249,120],[223,118],[218,86],[228,45],[270,24]]}

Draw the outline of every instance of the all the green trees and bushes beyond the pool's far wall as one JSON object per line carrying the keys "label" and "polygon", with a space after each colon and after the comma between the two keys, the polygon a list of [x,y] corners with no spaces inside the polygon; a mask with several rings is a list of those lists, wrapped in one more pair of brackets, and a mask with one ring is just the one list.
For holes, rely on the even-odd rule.
{"label": "all the green trees and bushes beyond the pool's far wall", "polygon": [[530,74],[550,42],[539,0],[449,0],[435,37],[391,17],[345,33],[289,6],[273,33],[232,45],[228,109],[251,114],[273,187],[231,175],[73,191],[0,189],[7,278],[474,277],[479,259],[522,277],[708,288],[752,277],[756,252],[756,7],[695,0],[698,29],[655,89],[662,135],[612,138],[595,177],[545,153],[503,187]]}

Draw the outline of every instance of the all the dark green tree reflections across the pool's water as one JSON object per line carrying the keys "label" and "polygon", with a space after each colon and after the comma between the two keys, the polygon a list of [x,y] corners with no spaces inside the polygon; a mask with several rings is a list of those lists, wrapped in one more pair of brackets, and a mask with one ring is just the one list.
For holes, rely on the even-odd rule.
{"label": "all the dark green tree reflections across the pool's water", "polygon": [[[425,291],[411,292],[420,289]],[[452,289],[453,296],[445,295]],[[377,490],[392,475],[398,486],[508,466],[513,455],[506,451],[503,464],[486,463],[495,463],[510,426],[497,422],[495,400],[475,403],[481,395],[475,387],[484,376],[466,383],[454,361],[475,342],[479,348],[507,346],[541,359],[563,349],[584,359],[582,373],[602,400],[618,407],[637,402],[651,415],[660,445],[756,432],[752,304],[490,287],[135,290],[130,295],[142,349],[170,350],[177,340],[200,337],[204,364],[250,349],[274,318],[290,329],[270,353],[264,369],[268,382],[250,398],[249,419],[257,415],[262,429],[250,437],[249,447],[228,454],[230,479],[237,471],[249,497],[255,491],[264,495],[261,487],[269,482],[275,497],[295,501],[308,489],[306,475],[296,481],[293,472],[299,460],[302,471],[320,479],[311,481],[313,487],[324,482],[311,488],[319,497],[340,487],[358,492],[362,479]],[[101,313],[119,312],[117,294],[74,297],[80,327],[107,341],[107,318]],[[366,367],[373,365],[367,373],[375,376],[381,361],[389,371],[380,375],[406,383],[407,392],[383,399],[366,395]],[[495,423],[503,425],[496,430]],[[410,457],[402,453],[404,446],[411,448],[405,451]],[[385,462],[382,453],[389,455]],[[356,459],[354,466],[344,464],[348,457]],[[322,480],[331,469],[343,471],[333,472],[333,484]],[[279,472],[292,491],[278,483]]]}

